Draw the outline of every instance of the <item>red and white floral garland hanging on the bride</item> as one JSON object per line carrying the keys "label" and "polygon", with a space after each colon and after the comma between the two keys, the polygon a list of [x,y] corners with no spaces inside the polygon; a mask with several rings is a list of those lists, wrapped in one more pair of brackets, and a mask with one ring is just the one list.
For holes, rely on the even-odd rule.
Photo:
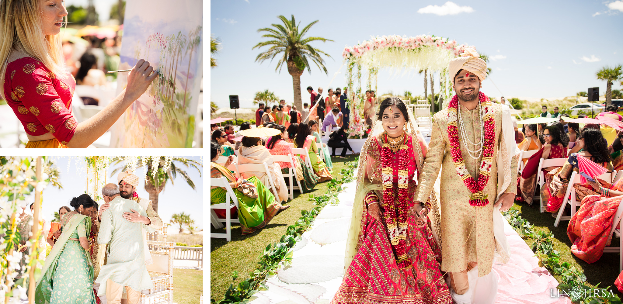
{"label": "red and white floral garland hanging on the bride", "polygon": [[[398,168],[393,168],[392,162],[394,160],[394,153],[388,145],[387,133],[383,135],[384,143],[381,148],[381,168],[383,170],[383,217],[388,227],[389,240],[392,247],[396,252],[397,265],[399,268],[407,267],[411,265],[411,261],[407,257],[406,252],[406,237],[407,237],[407,215],[409,211],[409,192],[407,166],[409,164],[407,136],[404,136],[404,140],[397,151]],[[393,171],[397,169],[399,176],[398,188],[393,188]],[[394,206],[395,197],[397,194],[398,208]]]}

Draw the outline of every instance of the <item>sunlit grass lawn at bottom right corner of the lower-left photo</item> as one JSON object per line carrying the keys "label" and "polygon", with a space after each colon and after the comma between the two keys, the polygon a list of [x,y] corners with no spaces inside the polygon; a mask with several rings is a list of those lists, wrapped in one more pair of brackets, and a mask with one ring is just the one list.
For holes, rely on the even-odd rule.
{"label": "sunlit grass lawn at bottom right corner of the lower-left photo", "polygon": [[203,270],[173,270],[173,301],[178,304],[199,303],[203,293]]}

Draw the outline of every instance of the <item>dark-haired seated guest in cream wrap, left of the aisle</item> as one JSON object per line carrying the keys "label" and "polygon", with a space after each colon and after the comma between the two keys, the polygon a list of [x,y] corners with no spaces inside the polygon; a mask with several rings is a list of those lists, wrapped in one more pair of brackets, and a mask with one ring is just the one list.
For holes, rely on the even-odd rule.
{"label": "dark-haired seated guest in cream wrap, left of the aisle", "polygon": [[[244,136],[242,138],[242,146],[238,153],[239,164],[264,164],[269,167],[270,174],[272,175],[272,182],[277,188],[277,194],[279,197],[275,197],[277,201],[288,201],[288,189],[283,180],[283,174],[281,173],[281,167],[279,164],[273,161],[270,151],[262,145],[262,139],[258,137]],[[270,185],[268,174],[258,171],[245,171],[241,172],[242,178],[249,179],[251,176],[256,176],[266,186]]]}

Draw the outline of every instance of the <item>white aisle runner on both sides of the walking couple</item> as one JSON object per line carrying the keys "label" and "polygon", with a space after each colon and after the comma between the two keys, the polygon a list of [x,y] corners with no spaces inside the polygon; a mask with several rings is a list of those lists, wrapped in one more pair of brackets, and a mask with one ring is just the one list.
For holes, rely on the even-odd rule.
{"label": "white aisle runner on both sides of the walking couple", "polygon": [[[355,173],[354,176],[357,176]],[[356,182],[343,185],[339,204],[327,205],[318,214],[313,226],[303,233],[303,240],[294,247],[292,266],[280,268],[267,280],[269,290],[255,293],[252,304],[328,304],[342,282],[346,234],[350,224]],[[439,180],[435,187],[439,191]],[[498,277],[496,303],[571,303],[556,295],[558,282],[548,270],[538,267],[526,242],[505,225],[511,247],[507,264],[493,265]]]}

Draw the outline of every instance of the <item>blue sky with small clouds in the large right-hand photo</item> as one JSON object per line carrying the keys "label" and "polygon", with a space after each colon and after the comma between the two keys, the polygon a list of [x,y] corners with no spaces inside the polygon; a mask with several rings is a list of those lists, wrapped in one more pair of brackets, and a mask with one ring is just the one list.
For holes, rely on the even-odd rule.
{"label": "blue sky with small clouds in the large right-hand photo", "polygon": [[[330,54],[328,75],[315,65],[301,77],[303,101],[308,85],[325,91],[340,69],[346,46],[370,36],[429,34],[475,45],[493,57],[491,74],[507,97],[556,98],[574,96],[589,87],[606,92],[606,82],[595,73],[602,67],[623,64],[623,1],[211,1],[210,32],[222,40],[211,69],[210,97],[229,108],[229,95],[239,95],[240,107],[252,108],[255,92],[269,89],[287,102],[293,100],[292,77],[277,60],[255,62],[267,49],[252,49],[265,40],[257,29],[280,23],[278,15],[295,15],[301,28],[319,20],[308,32],[335,42],[312,42]],[[426,7],[431,6],[426,9]],[[434,7],[437,6],[437,7]],[[459,14],[444,14],[455,10]],[[422,9],[422,10],[421,10]],[[422,13],[418,11],[422,11]],[[424,13],[424,11],[432,11]],[[437,12],[438,14],[435,14]],[[364,79],[362,79],[364,82]],[[437,82],[437,78],[435,78]],[[344,87],[345,67],[330,87]],[[362,83],[363,85],[363,83]],[[429,84],[430,85],[430,84]],[[409,90],[424,93],[422,75],[391,74],[381,70],[378,93]],[[619,89],[618,83],[613,88]],[[436,90],[436,89],[435,89]],[[482,92],[500,93],[490,80]],[[430,88],[429,88],[430,93]]]}

